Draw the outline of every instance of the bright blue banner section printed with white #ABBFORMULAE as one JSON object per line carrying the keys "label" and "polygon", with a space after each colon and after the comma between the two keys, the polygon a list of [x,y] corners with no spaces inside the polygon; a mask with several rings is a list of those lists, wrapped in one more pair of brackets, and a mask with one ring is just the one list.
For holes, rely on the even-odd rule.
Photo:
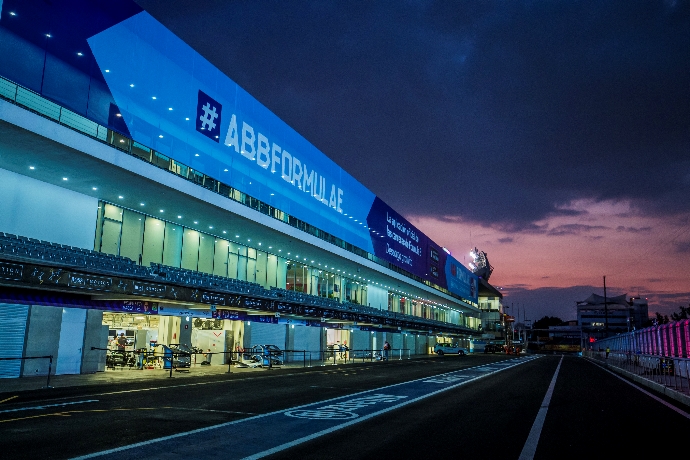
{"label": "bright blue banner section printed with white #ABBFORMULAE", "polygon": [[373,252],[374,194],[151,15],[88,43],[136,141]]}

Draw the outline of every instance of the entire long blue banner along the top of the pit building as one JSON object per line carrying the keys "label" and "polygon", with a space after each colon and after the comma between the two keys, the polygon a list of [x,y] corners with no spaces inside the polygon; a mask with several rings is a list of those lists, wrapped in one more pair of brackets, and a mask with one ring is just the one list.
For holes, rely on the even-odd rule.
{"label": "entire long blue banner along the top of the pit building", "polygon": [[4,0],[0,75],[477,301],[477,280],[131,0]]}

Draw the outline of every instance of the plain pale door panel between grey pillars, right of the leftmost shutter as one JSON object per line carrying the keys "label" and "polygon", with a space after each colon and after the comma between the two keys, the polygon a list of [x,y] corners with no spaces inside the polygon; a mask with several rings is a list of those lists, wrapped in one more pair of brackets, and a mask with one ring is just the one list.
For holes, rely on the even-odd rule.
{"label": "plain pale door panel between grey pillars, right of the leftmost shutter", "polygon": [[79,374],[84,346],[86,310],[63,308],[55,374]]}

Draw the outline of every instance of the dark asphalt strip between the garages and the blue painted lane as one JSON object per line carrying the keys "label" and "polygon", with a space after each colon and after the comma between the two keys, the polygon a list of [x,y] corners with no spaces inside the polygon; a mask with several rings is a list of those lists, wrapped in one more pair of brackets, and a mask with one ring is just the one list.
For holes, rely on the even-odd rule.
{"label": "dark asphalt strip between the garages and the blue painted lane", "polygon": [[[9,458],[72,458],[485,363],[506,355],[311,368],[191,372],[116,370],[0,381],[0,451]],[[202,370],[203,369],[203,370]],[[9,386],[12,386],[10,388]],[[38,407],[38,409],[35,409]]]}

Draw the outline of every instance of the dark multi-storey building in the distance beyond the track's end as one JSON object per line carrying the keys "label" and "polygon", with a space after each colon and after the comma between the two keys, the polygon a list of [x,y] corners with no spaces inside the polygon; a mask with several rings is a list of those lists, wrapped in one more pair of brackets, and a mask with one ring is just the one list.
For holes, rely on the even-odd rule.
{"label": "dark multi-storey building in the distance beyond the track's end", "polygon": [[590,337],[601,338],[644,327],[649,307],[646,299],[627,294],[603,297],[597,294],[577,302],[577,323]]}

